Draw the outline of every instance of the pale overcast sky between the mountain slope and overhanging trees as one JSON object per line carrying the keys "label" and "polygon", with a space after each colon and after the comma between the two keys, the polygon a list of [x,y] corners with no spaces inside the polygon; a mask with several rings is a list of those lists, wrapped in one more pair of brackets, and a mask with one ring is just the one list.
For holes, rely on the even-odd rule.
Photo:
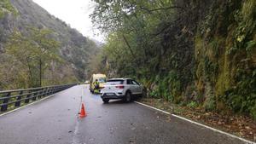
{"label": "pale overcast sky between the mountain slope and overhanging trees", "polygon": [[50,14],[70,24],[84,36],[103,42],[104,38],[93,28],[89,15],[95,3],[90,0],[33,0]]}

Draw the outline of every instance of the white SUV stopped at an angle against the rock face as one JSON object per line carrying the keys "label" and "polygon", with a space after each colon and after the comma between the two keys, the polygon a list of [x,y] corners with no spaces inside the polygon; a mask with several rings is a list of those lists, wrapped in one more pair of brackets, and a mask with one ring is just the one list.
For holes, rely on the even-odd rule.
{"label": "white SUV stopped at an angle against the rock face", "polygon": [[107,81],[101,94],[104,103],[108,103],[110,99],[130,102],[132,96],[143,95],[143,86],[130,78],[113,78]]}

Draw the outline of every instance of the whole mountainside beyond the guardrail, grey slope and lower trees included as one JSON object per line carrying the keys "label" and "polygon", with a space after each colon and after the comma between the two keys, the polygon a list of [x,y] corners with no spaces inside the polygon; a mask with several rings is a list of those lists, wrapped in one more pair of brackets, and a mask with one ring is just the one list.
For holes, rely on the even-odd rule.
{"label": "whole mountainside beyond the guardrail, grey slope and lower trees included", "polygon": [[97,50],[32,0],[1,0],[0,90],[84,81]]}

